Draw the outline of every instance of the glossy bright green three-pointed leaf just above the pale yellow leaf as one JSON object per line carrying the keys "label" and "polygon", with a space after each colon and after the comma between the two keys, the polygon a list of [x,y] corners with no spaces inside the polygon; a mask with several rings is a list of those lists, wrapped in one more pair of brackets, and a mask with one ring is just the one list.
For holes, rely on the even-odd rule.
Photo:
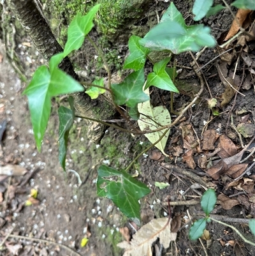
{"label": "glossy bright green three-pointed leaf just above the pale yellow leaf", "polygon": [[175,93],[179,93],[177,87],[173,84],[170,76],[166,72],[166,64],[170,61],[170,57],[159,61],[159,63],[154,64],[152,73],[149,73],[147,77],[147,82],[145,89],[149,88],[150,86],[156,86],[157,88],[166,90],[166,91],[173,91]]}

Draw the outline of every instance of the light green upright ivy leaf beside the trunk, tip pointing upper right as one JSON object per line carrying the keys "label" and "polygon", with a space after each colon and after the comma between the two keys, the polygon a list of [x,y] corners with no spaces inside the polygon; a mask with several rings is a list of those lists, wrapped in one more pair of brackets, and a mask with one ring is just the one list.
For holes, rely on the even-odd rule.
{"label": "light green upright ivy leaf beside the trunk, tip pointing upper right", "polygon": [[96,4],[91,8],[87,15],[82,16],[78,14],[75,19],[72,20],[68,27],[68,41],[64,46],[64,57],[68,56],[73,50],[78,50],[84,43],[85,36],[91,31],[94,16],[96,15],[101,4]]}

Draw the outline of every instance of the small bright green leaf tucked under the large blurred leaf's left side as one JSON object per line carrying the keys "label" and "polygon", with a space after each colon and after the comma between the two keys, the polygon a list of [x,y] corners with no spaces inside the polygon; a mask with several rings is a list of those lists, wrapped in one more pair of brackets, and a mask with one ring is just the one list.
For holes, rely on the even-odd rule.
{"label": "small bright green leaf tucked under the large blurred leaf's left side", "polygon": [[130,36],[128,41],[130,55],[124,63],[124,68],[131,68],[135,71],[143,68],[150,50],[140,45],[139,40],[141,39],[139,36]]}

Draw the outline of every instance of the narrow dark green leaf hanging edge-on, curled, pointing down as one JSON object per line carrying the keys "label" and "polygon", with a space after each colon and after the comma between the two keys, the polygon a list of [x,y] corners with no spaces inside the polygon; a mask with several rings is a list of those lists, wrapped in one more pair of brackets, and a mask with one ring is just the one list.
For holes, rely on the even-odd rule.
{"label": "narrow dark green leaf hanging edge-on, curled, pointing down", "polygon": [[59,107],[59,162],[62,169],[66,170],[66,149],[68,146],[68,136],[75,114],[73,110],[66,107]]}

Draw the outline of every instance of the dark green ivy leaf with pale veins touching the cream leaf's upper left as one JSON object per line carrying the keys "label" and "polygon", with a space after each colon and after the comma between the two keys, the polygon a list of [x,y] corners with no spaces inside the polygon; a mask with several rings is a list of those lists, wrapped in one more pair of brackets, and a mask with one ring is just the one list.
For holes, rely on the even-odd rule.
{"label": "dark green ivy leaf with pale veins touching the cream leaf's upper left", "polygon": [[135,107],[137,103],[149,100],[149,96],[143,93],[145,82],[143,68],[131,73],[120,84],[112,84],[114,102],[117,105],[126,104],[128,107]]}

